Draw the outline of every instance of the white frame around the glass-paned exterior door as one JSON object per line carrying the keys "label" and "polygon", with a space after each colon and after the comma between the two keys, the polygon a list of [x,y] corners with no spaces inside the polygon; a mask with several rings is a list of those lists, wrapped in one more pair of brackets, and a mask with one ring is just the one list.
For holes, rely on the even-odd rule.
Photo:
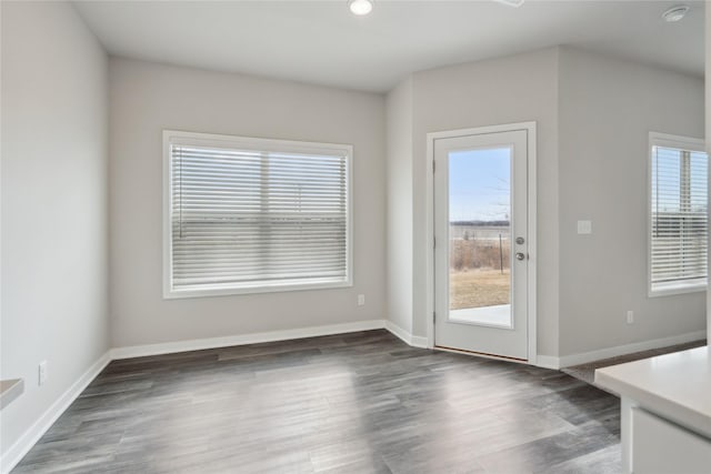
{"label": "white frame around the glass-paned exterior door", "polygon": [[477,135],[484,133],[511,132],[525,130],[528,133],[528,218],[529,218],[529,261],[528,261],[528,363],[537,364],[537,312],[535,312],[535,269],[537,269],[537,234],[535,234],[535,122],[508,123],[501,125],[477,127],[473,129],[431,132],[427,134],[427,345],[434,349],[434,140],[455,137]]}

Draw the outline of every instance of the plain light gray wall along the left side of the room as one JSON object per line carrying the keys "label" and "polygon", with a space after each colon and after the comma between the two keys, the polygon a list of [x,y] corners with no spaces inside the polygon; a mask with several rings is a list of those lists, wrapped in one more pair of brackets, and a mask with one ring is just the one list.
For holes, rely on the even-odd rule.
{"label": "plain light gray wall along the left side of the room", "polygon": [[[7,460],[22,433],[109,349],[108,70],[68,3],[1,8],[0,376],[26,383],[2,410]],[[43,360],[49,379],[40,387]]]}

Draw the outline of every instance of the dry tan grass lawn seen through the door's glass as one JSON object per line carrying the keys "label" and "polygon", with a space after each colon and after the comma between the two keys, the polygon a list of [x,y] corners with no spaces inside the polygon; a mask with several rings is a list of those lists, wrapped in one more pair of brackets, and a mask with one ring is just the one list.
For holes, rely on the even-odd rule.
{"label": "dry tan grass lawn seen through the door's glass", "polygon": [[480,269],[468,271],[450,271],[450,310],[464,307],[492,306],[508,304],[510,294],[510,274],[504,269]]}

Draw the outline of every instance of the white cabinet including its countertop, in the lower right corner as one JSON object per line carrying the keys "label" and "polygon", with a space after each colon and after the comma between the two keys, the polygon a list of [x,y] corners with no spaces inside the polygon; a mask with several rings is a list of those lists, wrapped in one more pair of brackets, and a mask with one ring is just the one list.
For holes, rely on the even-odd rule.
{"label": "white cabinet including its countertop, in the lower right corner", "polygon": [[622,471],[711,474],[711,347],[595,371],[622,399]]}

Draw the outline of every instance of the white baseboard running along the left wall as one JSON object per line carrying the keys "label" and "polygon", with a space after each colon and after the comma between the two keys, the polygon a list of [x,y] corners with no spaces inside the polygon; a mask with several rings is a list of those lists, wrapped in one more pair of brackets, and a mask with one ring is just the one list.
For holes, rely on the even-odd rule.
{"label": "white baseboard running along the left wall", "polygon": [[101,373],[111,362],[110,351],[103,354],[74,382],[52,405],[30,426],[18,441],[2,453],[0,472],[7,474],[20,462],[22,457],[37,444],[42,435],[72,404],[84,389]]}

